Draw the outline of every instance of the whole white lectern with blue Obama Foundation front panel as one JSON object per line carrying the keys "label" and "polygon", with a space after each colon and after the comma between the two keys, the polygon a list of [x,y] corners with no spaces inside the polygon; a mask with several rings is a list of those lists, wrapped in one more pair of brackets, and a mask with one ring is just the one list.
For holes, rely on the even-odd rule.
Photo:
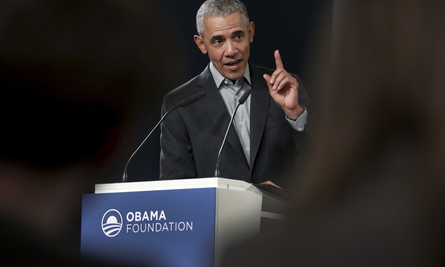
{"label": "whole white lectern with blue Obama Foundation front panel", "polygon": [[281,219],[284,201],[224,178],[97,184],[83,196],[81,253],[154,266],[218,266],[224,250]]}

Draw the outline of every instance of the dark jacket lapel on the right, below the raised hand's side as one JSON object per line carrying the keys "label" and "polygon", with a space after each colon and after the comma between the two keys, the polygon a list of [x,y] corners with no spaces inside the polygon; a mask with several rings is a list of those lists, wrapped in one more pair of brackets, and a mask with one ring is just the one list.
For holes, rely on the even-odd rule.
{"label": "dark jacket lapel on the right, below the raised hand's side", "polygon": [[263,138],[266,118],[269,111],[269,88],[263,78],[263,72],[250,63],[252,93],[250,102],[250,173]]}

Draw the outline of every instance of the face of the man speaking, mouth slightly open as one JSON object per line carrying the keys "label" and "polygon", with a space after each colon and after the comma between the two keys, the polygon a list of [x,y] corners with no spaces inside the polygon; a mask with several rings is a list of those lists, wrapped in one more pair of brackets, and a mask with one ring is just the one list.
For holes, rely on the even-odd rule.
{"label": "face of the man speaking, mouth slightly open", "polygon": [[253,22],[246,26],[240,12],[226,17],[207,17],[202,36],[195,42],[207,54],[222,76],[237,80],[244,75],[253,41]]}

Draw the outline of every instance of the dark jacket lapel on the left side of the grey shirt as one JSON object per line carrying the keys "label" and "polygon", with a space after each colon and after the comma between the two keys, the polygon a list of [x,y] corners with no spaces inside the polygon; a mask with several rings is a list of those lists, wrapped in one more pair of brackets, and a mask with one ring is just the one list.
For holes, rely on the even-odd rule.
{"label": "dark jacket lapel on the left side of the grey shirt", "polygon": [[[198,87],[202,87],[202,91],[206,93],[205,98],[202,99],[205,109],[207,110],[208,115],[212,118],[213,122],[218,127],[222,137],[224,138],[230,122],[231,114],[227,112],[227,108],[224,104],[223,99],[221,98],[221,94],[219,93],[217,86],[215,85],[215,80],[213,79],[208,65],[199,75],[196,85]],[[233,123],[230,125],[230,130],[227,133],[226,141],[237,152],[240,158],[244,159],[244,162],[247,164],[246,156],[244,155],[240,139],[234,129]],[[226,145],[227,144],[224,144],[224,147]],[[218,151],[215,151],[215,153],[218,153]],[[223,154],[223,152],[221,154]]]}

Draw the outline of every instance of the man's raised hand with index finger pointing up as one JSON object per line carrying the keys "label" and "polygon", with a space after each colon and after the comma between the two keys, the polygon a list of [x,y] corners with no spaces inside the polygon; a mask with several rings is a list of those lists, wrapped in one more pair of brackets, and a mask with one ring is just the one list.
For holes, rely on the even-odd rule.
{"label": "man's raised hand with index finger pointing up", "polygon": [[269,93],[275,102],[280,105],[286,116],[297,119],[303,113],[303,107],[298,104],[298,82],[283,67],[280,53],[274,53],[276,70],[272,76],[263,75],[269,87]]}

